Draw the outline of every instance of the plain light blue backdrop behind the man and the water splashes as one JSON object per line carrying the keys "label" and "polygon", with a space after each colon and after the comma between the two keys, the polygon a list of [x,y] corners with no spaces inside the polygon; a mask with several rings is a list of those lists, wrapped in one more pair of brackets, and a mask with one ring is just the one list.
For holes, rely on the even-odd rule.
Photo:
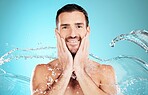
{"label": "plain light blue backdrop behind the man and the water splashes", "polygon": [[[90,53],[103,59],[130,55],[148,62],[147,53],[134,43],[122,41],[114,48],[109,46],[120,34],[148,30],[148,0],[0,0],[0,56],[14,48],[36,48],[38,43],[56,46],[56,12],[67,3],[76,3],[88,12]],[[35,65],[47,62],[48,59],[20,59],[0,67],[31,77]]]}

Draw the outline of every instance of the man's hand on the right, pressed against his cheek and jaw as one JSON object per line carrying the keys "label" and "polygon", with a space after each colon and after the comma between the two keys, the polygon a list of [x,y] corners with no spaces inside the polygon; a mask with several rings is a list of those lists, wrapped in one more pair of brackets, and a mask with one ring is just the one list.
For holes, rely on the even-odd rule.
{"label": "man's hand on the right, pressed against his cheek and jaw", "polygon": [[86,33],[86,36],[82,39],[79,50],[77,51],[74,58],[74,70],[80,72],[84,70],[84,66],[89,62],[89,32]]}

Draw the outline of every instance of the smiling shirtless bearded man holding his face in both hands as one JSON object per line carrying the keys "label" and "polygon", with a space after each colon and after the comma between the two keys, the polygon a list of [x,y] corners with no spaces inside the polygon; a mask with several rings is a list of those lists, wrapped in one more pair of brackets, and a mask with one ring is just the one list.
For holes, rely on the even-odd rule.
{"label": "smiling shirtless bearded man holding his face in both hands", "polygon": [[36,66],[33,95],[115,95],[111,66],[88,58],[90,27],[87,12],[67,4],[56,16],[58,59]]}

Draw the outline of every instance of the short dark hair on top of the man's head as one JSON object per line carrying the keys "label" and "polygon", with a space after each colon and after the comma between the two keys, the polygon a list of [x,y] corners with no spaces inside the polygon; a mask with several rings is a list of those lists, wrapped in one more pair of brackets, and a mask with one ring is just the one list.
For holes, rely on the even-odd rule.
{"label": "short dark hair on top of the man's head", "polygon": [[85,16],[86,19],[86,26],[89,25],[89,19],[88,19],[88,14],[86,12],[86,10],[84,10],[81,6],[77,5],[77,4],[67,4],[65,6],[63,6],[61,9],[59,9],[57,11],[57,15],[56,15],[56,25],[58,26],[58,17],[61,13],[63,12],[73,12],[73,11],[79,11],[82,12]]}

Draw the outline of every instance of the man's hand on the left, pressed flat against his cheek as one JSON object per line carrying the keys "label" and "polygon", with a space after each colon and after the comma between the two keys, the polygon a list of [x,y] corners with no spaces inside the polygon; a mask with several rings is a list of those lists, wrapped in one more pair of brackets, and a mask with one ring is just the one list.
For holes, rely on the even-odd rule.
{"label": "man's hand on the left, pressed flat against his cheek", "polygon": [[56,33],[57,37],[57,48],[58,48],[58,58],[60,63],[63,66],[63,69],[71,68],[73,69],[73,58],[69,50],[67,49],[65,40],[60,37],[58,32]]}

